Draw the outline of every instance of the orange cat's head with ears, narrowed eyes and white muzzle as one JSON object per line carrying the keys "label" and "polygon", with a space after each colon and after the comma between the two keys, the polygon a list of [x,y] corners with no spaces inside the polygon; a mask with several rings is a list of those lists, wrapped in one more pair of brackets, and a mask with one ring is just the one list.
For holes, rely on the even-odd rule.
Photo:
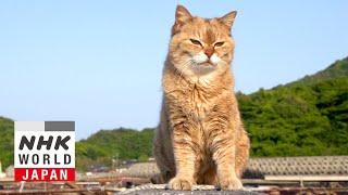
{"label": "orange cat's head with ears, narrowed eyes and white muzzle", "polygon": [[220,18],[191,16],[182,5],[176,9],[170,43],[170,60],[185,76],[202,76],[228,69],[234,41],[231,27],[236,12]]}

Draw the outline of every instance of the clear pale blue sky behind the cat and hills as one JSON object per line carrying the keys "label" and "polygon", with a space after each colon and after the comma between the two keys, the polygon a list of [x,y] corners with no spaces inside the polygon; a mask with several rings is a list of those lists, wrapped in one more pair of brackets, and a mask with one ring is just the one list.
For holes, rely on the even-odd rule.
{"label": "clear pale blue sky behind the cat and hills", "polygon": [[0,116],[100,129],[156,127],[176,4],[192,15],[238,12],[233,72],[252,93],[348,55],[348,1],[2,0]]}

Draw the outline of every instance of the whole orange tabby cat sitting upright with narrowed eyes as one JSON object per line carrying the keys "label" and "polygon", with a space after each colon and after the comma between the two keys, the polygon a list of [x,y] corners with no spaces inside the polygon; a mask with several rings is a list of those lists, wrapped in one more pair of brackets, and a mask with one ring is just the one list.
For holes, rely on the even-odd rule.
{"label": "whole orange tabby cat sitting upright with narrowed eyes", "polygon": [[231,27],[236,12],[220,18],[176,9],[163,69],[163,104],[153,154],[160,181],[173,190],[194,184],[241,188],[249,138],[233,92]]}

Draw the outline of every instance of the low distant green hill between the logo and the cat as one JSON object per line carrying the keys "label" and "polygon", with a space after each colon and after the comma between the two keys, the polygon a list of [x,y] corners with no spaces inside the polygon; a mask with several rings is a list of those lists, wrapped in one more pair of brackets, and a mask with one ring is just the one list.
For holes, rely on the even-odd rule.
{"label": "low distant green hill between the logo and the cat", "polygon": [[119,128],[100,130],[76,143],[76,166],[111,166],[112,159],[147,160],[152,153],[153,129],[136,131]]}

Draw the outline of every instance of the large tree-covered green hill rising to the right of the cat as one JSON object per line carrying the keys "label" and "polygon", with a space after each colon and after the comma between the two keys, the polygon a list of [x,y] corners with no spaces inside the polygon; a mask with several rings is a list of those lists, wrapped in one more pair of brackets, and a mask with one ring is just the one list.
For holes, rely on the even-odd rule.
{"label": "large tree-covered green hill rising to the right of the cat", "polygon": [[238,94],[253,156],[348,154],[348,58],[286,86]]}

